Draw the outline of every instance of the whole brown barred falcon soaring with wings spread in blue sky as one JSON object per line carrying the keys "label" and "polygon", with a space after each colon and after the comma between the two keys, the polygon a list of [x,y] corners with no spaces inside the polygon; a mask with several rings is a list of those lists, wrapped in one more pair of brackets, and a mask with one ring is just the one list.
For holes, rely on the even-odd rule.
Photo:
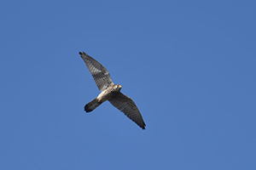
{"label": "whole brown barred falcon soaring with wings spread in blue sky", "polygon": [[122,86],[112,82],[107,69],[96,61],[96,59],[93,59],[90,55],[85,54],[84,52],[79,52],[79,54],[81,55],[81,58],[84,59],[84,63],[96,82],[96,86],[101,91],[96,99],[93,99],[84,106],[84,111],[93,111],[96,107],[108,100],[114,107],[119,109],[119,111],[124,112],[131,121],[136,122],[139,127],[145,129],[146,124],[143,121],[143,116],[137,109],[137,105],[135,105],[130,97],[120,92]]}

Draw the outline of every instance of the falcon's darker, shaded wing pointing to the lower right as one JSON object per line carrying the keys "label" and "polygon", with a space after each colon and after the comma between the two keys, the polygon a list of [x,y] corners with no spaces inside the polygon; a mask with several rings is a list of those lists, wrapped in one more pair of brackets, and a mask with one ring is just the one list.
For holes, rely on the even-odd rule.
{"label": "falcon's darker, shaded wing pointing to the lower right", "polygon": [[118,93],[111,99],[108,99],[108,101],[120,111],[124,112],[131,121],[136,122],[139,127],[145,129],[146,124],[143,121],[143,116],[131,98],[125,96],[125,94]]}

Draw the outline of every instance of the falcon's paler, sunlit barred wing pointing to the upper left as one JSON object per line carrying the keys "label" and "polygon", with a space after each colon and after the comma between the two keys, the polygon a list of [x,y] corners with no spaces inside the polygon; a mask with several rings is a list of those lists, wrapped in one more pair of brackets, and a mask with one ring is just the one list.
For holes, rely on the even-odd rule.
{"label": "falcon's paler, sunlit barred wing pointing to the upper left", "polygon": [[79,54],[81,55],[82,59],[84,59],[84,62],[88,67],[90,74],[96,82],[96,86],[101,91],[107,89],[110,85],[113,84],[109,72],[103,65],[101,65],[98,61],[96,61],[96,59],[93,59],[92,57],[90,57],[90,55],[85,54],[84,52],[79,52]]}

